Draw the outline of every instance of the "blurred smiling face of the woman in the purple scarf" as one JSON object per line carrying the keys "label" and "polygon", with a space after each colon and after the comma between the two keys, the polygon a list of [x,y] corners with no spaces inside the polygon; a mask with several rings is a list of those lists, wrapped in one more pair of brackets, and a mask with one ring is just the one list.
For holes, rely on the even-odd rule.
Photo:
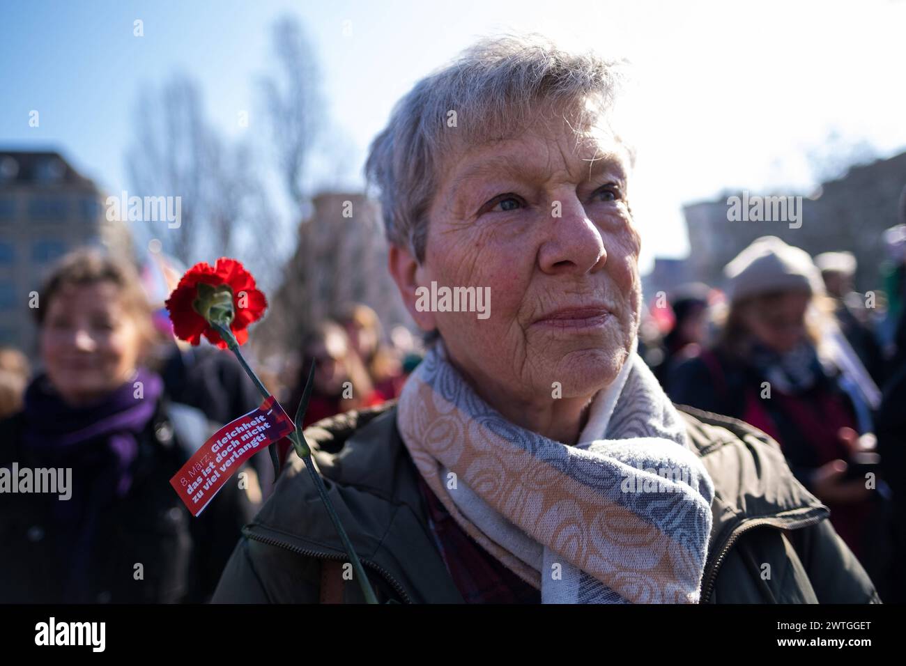
{"label": "blurred smiling face of the woman in the purple scarf", "polygon": [[120,304],[117,285],[65,285],[46,307],[41,355],[64,400],[98,400],[129,380],[141,336]]}

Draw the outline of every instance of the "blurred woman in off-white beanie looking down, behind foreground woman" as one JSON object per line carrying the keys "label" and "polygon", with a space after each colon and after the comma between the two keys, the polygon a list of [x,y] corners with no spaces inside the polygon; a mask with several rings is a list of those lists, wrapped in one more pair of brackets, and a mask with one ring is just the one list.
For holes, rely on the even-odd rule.
{"label": "blurred woman in off-white beanie looking down, behind foreground woman", "polygon": [[[881,497],[854,463],[871,446],[867,406],[822,350],[830,310],[810,256],[775,236],[726,268],[730,306],[718,343],[671,374],[671,400],[726,414],[776,439],[790,468],[831,508],[831,521],[882,586]],[[877,471],[876,469],[874,471]],[[881,558],[882,559],[882,558]],[[882,593],[883,594],[883,593]]]}

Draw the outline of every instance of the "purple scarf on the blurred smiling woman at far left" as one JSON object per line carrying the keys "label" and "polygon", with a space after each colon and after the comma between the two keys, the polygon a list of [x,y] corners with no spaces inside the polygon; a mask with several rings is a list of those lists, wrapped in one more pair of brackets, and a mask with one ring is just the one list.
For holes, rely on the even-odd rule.
{"label": "purple scarf on the blurred smiling woman at far left", "polygon": [[53,501],[48,516],[69,568],[67,601],[95,601],[84,594],[97,518],[129,492],[139,435],[154,416],[162,392],[163,381],[144,369],[85,406],[63,401],[46,375],[36,377],[25,391],[22,441],[28,458],[43,467],[72,468],[72,497]]}

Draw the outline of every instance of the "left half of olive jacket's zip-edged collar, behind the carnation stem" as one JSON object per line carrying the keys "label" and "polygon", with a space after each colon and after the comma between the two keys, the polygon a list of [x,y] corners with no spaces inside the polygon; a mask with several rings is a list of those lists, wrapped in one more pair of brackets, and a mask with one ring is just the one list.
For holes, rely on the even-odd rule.
{"label": "left half of olive jacket's zip-edged collar, behind the carnation stem", "polygon": [[[418,470],[385,403],[348,412],[305,430],[316,467],[356,555],[405,601],[463,603],[429,531]],[[274,493],[243,529],[253,539],[301,555],[346,559],[304,462],[293,455]]]}

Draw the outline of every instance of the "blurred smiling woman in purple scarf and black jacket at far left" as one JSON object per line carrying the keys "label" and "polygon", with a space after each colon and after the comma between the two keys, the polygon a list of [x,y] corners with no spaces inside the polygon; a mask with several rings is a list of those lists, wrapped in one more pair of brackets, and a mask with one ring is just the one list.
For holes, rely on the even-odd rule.
{"label": "blurred smiling woman in purple scarf and black jacket at far left", "polygon": [[0,466],[70,482],[0,495],[0,602],[207,600],[252,516],[255,483],[227,483],[198,518],[170,487],[213,429],[142,366],[153,333],[138,276],[76,251],[34,312],[44,372],[0,422]]}

